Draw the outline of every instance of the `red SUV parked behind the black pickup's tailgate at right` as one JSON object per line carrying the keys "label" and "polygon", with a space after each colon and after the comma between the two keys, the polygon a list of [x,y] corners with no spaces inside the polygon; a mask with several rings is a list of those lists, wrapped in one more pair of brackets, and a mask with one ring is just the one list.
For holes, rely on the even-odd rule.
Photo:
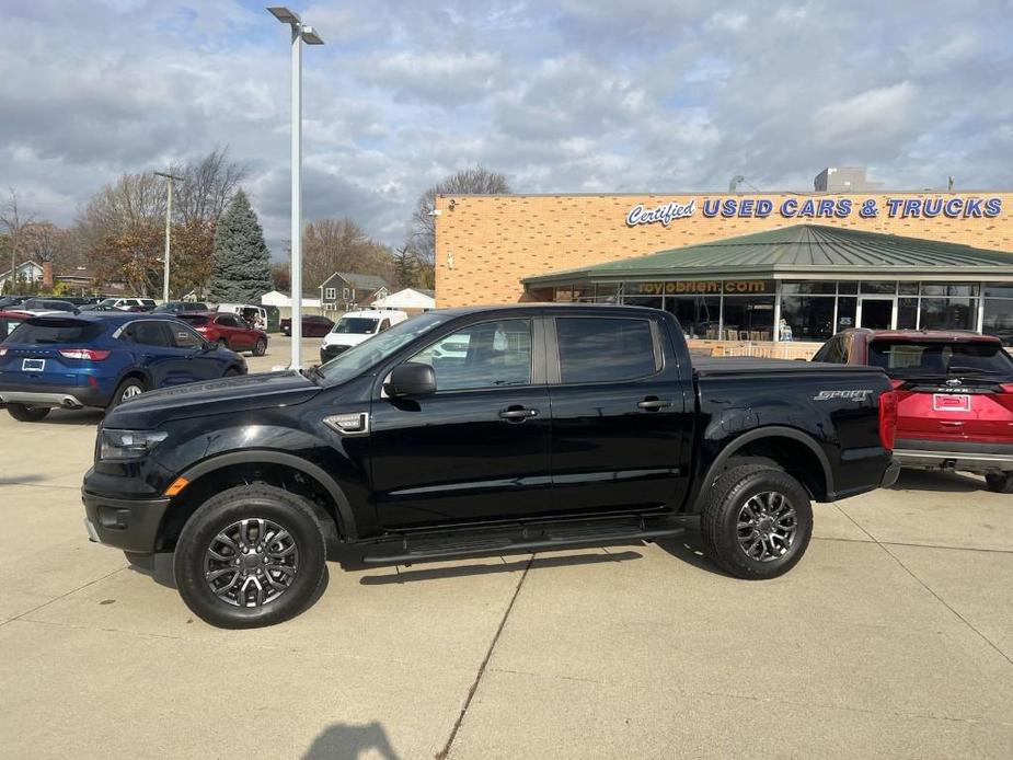
{"label": "red SUV parked behind the black pickup's tailgate at right", "polygon": [[897,389],[897,449],[909,468],[965,470],[1013,494],[1013,358],[994,335],[847,330],[814,361],[882,367]]}

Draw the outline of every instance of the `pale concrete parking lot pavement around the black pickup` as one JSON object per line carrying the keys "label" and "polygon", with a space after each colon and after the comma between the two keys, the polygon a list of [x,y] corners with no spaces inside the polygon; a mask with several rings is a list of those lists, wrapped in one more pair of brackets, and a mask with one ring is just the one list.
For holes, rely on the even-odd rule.
{"label": "pale concrete parking lot pavement around the black pickup", "polygon": [[4,757],[1013,757],[1013,497],[977,477],[818,505],[773,581],[718,573],[693,536],[349,555],[306,614],[230,632],[88,542],[100,418],[0,412]]}

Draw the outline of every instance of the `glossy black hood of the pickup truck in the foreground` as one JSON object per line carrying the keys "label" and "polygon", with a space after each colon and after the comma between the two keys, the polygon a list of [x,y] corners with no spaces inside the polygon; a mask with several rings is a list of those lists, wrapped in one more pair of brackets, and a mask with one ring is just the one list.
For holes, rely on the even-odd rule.
{"label": "glossy black hood of the pickup truck in the foreground", "polygon": [[106,414],[103,425],[145,429],[169,419],[292,406],[319,392],[319,385],[295,370],[194,382],[135,396]]}

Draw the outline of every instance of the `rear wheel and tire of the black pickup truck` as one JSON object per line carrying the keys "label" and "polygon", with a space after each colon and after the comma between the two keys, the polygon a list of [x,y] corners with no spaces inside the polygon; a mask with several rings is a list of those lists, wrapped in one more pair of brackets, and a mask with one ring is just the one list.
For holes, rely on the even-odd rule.
{"label": "rear wheel and tire of the black pickup truck", "polygon": [[722,569],[747,580],[776,578],[794,567],[809,545],[809,493],[778,468],[737,464],[711,487],[700,530],[706,554]]}

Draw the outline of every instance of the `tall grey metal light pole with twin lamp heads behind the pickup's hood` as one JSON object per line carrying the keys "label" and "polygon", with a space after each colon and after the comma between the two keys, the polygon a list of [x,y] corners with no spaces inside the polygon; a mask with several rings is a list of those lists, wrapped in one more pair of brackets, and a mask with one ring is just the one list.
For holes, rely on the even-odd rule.
{"label": "tall grey metal light pole with twin lamp heads behind the pickup's hood", "polygon": [[302,366],[302,43],[323,45],[323,39],[299,19],[280,5],[267,9],[292,30],[292,361]]}

